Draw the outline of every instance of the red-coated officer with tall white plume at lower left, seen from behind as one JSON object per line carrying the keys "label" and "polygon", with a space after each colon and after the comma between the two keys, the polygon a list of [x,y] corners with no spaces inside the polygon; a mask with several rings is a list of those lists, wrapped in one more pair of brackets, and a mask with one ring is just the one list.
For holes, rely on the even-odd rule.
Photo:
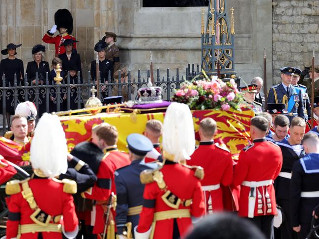
{"label": "red-coated officer with tall white plume at lower left, seen from behind", "polygon": [[[48,137],[50,135],[50,137]],[[74,238],[78,218],[71,193],[76,182],[57,180],[67,170],[67,146],[58,116],[44,113],[35,129],[30,149],[33,174],[24,181],[10,181],[7,239]]]}

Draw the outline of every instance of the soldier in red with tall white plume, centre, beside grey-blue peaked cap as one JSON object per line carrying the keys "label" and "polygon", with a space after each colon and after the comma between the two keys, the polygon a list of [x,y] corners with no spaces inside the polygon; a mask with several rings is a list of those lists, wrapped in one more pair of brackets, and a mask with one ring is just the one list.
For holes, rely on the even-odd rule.
{"label": "soldier in red with tall white plume, centre, beside grey-blue peaked cap", "polygon": [[179,163],[190,159],[194,149],[191,111],[184,104],[172,103],[164,119],[164,165],[141,173],[141,182],[146,185],[135,239],[184,238],[192,229],[191,216],[203,215],[203,169]]}

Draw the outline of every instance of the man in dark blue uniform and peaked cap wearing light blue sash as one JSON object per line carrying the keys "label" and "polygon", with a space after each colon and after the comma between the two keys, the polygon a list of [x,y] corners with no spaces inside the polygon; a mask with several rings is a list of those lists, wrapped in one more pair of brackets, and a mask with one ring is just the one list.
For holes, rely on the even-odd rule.
{"label": "man in dark blue uniform and peaked cap wearing light blue sash", "polygon": [[283,67],[280,68],[280,71],[282,82],[270,88],[267,103],[286,104],[290,121],[295,116],[304,118],[302,91],[299,87],[291,85],[295,69],[293,67]]}

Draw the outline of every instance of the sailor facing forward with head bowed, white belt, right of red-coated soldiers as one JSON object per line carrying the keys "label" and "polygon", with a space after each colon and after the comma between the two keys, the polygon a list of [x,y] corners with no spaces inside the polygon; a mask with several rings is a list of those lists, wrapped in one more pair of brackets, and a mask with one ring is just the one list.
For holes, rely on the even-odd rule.
{"label": "sailor facing forward with head bowed, white belt, right of red-coated soldiers", "polygon": [[290,138],[283,139],[277,143],[283,154],[283,166],[275,181],[277,204],[285,214],[285,221],[283,221],[279,228],[281,239],[293,239],[296,237],[296,232],[292,230],[289,213],[290,180],[293,163],[305,155],[301,144],[305,128],[306,123],[304,119],[300,117],[293,118],[290,123]]}

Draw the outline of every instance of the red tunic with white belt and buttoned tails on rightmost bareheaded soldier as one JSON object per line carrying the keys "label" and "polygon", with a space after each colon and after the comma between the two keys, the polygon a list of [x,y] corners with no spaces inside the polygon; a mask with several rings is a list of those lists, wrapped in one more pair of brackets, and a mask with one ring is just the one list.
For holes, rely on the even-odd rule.
{"label": "red tunic with white belt and buttoned tails on rightmost bareheaded soldier", "polygon": [[276,214],[275,189],[272,182],[277,178],[282,163],[283,157],[279,146],[266,141],[265,138],[253,140],[251,145],[240,152],[233,175],[233,185],[241,185],[239,216],[248,217],[249,215],[248,201],[251,196],[251,188],[254,187],[253,185],[248,186],[249,182],[266,185],[255,187],[256,199],[253,200],[255,203],[252,210],[253,216]]}

